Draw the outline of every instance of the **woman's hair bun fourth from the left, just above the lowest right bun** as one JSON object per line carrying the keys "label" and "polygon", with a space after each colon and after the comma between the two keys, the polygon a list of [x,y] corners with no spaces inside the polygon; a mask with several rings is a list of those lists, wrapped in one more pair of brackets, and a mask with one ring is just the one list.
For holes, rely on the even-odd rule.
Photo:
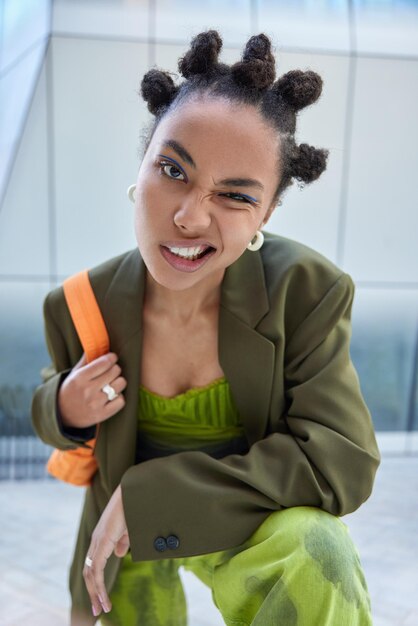
{"label": "woman's hair bun fourth from the left, just above the lowest right bun", "polygon": [[311,70],[292,70],[281,76],[273,89],[299,111],[318,100],[322,92],[322,78]]}

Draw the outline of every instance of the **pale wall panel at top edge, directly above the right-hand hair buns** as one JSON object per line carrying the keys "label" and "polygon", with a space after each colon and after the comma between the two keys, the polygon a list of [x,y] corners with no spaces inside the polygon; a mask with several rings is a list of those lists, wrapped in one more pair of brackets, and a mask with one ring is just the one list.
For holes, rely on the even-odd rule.
{"label": "pale wall panel at top edge, directly above the right-hand hair buns", "polygon": [[282,47],[349,50],[348,2],[258,0],[258,30]]}

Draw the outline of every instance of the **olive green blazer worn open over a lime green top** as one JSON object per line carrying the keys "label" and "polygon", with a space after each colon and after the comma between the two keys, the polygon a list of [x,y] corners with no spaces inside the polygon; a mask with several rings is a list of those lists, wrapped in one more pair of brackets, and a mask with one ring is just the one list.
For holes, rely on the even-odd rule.
{"label": "olive green blazer worn open over a lime green top", "polygon": [[[140,383],[145,266],[138,250],[90,271],[111,350],[128,386],[125,408],[100,427],[99,471],[86,491],[71,570],[75,606],[90,609],[81,576],[91,533],[122,484],[134,561],[187,557],[243,543],[272,512],[311,505],[335,515],[371,493],[379,452],[349,352],[351,278],[317,252],[266,234],[225,273],[219,360],[241,415],[250,451],[216,460],[181,452],[134,464]],[[82,349],[62,288],[44,306],[56,374],[35,392],[33,424],[43,441],[76,447],[56,417],[61,375]],[[175,535],[159,552],[157,537]],[[108,587],[118,559],[106,568]]]}

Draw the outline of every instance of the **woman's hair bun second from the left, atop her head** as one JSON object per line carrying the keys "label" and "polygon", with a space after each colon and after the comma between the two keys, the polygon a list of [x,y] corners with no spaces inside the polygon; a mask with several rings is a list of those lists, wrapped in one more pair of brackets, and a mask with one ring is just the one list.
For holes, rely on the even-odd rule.
{"label": "woman's hair bun second from the left, atop her head", "polygon": [[216,30],[208,30],[192,39],[191,48],[179,60],[178,68],[184,78],[207,74],[218,65],[222,39]]}

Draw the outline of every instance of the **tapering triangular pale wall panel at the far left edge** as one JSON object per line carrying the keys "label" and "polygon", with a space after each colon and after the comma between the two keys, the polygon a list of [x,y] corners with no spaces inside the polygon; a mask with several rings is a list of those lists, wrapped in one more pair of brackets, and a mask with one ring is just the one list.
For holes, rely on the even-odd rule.
{"label": "tapering triangular pale wall panel at the far left edge", "polygon": [[2,274],[48,275],[48,231],[46,88],[43,69],[0,209],[0,278]]}

